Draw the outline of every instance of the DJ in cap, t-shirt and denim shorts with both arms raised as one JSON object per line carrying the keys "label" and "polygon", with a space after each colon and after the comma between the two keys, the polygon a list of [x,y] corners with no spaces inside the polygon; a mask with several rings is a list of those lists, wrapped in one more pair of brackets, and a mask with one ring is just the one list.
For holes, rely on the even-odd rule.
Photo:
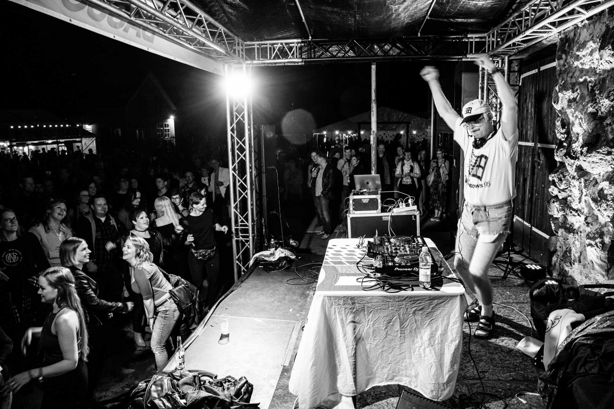
{"label": "DJ in cap, t-shirt and denim shorts with both arms raised", "polygon": [[510,85],[488,55],[478,55],[475,63],[494,79],[502,104],[499,127],[495,127],[488,103],[481,99],[469,101],[462,107],[462,116],[457,114],[441,90],[437,68],[426,66],[420,74],[429,84],[437,112],[454,130],[454,141],[465,155],[465,203],[457,230],[454,267],[480,302],[480,306],[470,307],[465,321],[479,321],[475,337],[489,338],[495,314],[488,270],[510,232],[516,195],[518,105]]}

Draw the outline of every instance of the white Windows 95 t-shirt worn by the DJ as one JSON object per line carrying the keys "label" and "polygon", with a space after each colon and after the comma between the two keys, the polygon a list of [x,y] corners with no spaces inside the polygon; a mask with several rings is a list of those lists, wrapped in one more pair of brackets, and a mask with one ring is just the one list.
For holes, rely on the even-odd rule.
{"label": "white Windows 95 t-shirt worn by the DJ", "polygon": [[463,180],[465,200],[469,204],[492,206],[516,196],[515,177],[518,158],[518,128],[503,138],[501,129],[480,149],[473,147],[473,136],[461,125],[454,128],[456,141],[465,154]]}

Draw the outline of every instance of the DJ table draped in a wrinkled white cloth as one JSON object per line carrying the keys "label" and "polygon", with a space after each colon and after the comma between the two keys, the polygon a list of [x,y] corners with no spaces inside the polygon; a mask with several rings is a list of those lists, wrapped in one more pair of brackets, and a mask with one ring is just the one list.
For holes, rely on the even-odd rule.
{"label": "DJ table draped in a wrinkled white cloth", "polygon": [[[365,249],[357,248],[358,243],[328,242],[290,376],[289,389],[298,395],[299,408],[317,407],[327,398],[339,403],[340,395],[385,384],[448,399],[461,359],[464,288],[443,279],[439,290],[362,290],[357,278],[365,274],[356,263]],[[443,275],[453,276],[435,244],[430,239],[426,243],[434,261],[441,261]]]}

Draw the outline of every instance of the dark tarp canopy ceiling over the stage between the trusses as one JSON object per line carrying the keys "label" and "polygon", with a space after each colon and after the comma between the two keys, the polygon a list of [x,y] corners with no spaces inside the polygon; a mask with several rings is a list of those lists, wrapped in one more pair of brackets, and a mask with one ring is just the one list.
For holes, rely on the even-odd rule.
{"label": "dark tarp canopy ceiling over the stage between the trusses", "polygon": [[[485,33],[518,0],[192,0],[243,41]],[[526,1],[520,1],[522,3]],[[429,7],[433,8],[429,14]],[[305,24],[301,18],[305,16]],[[309,33],[306,27],[309,28]]]}

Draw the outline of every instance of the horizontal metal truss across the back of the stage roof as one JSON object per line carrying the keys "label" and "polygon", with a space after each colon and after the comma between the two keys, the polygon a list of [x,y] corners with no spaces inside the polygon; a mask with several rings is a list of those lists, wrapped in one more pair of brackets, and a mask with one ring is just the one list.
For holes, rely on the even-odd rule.
{"label": "horizontal metal truss across the back of the stage roof", "polygon": [[485,34],[380,40],[280,40],[245,43],[251,64],[303,64],[382,60],[462,60],[486,47]]}

